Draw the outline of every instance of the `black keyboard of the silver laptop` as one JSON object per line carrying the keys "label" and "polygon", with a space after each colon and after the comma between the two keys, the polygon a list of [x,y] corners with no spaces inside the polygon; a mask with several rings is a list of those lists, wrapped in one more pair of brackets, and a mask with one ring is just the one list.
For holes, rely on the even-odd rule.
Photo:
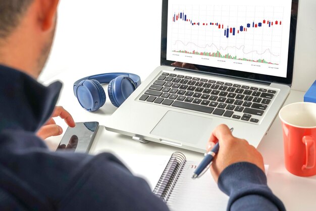
{"label": "black keyboard of the silver laptop", "polygon": [[276,90],[163,72],[140,101],[259,122]]}

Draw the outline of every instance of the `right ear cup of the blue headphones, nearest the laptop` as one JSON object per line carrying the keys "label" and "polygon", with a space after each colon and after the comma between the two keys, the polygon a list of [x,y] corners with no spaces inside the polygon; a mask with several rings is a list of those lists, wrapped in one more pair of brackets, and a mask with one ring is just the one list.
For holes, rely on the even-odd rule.
{"label": "right ear cup of the blue headphones, nearest the laptop", "polygon": [[118,76],[110,81],[108,93],[111,103],[119,107],[136,90],[135,82],[126,76]]}

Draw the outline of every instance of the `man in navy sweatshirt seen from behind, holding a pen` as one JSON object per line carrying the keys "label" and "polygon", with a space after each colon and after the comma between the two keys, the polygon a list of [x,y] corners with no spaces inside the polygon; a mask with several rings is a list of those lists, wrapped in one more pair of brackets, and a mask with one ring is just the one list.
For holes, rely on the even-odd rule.
{"label": "man in navy sweatshirt seen from behind, holding a pen", "polygon": [[[0,0],[0,210],[168,210],[112,154],[52,152],[61,83],[36,82],[54,37],[59,0]],[[37,136],[38,135],[38,136]],[[261,155],[226,125],[211,135],[211,171],[230,195],[228,210],[285,210],[267,186]]]}

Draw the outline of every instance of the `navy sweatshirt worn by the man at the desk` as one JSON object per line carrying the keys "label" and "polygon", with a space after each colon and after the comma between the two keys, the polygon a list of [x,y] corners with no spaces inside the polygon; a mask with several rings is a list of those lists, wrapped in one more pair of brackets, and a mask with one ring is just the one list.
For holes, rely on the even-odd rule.
{"label": "navy sweatshirt worn by the man at the desk", "polygon": [[[0,210],[169,210],[110,153],[49,151],[35,133],[61,87],[0,65]],[[285,210],[251,163],[227,167],[219,187],[230,196],[227,210]]]}

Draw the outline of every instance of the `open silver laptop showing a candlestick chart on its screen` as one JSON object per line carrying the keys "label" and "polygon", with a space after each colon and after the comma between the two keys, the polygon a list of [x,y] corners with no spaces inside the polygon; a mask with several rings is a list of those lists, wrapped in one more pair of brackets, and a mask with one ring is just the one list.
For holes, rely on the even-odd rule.
{"label": "open silver laptop showing a candlestick chart on its screen", "polygon": [[205,152],[219,124],[257,147],[292,83],[297,0],[163,0],[161,66],[106,129]]}

